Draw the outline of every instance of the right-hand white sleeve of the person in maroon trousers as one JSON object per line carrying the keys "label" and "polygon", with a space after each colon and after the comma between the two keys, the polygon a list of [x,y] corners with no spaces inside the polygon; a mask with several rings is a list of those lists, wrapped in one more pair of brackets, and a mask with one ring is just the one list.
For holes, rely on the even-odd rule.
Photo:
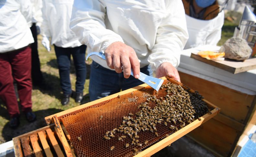
{"label": "right-hand white sleeve of the person in maroon trousers", "polygon": [[20,4],[20,12],[25,17],[29,27],[32,26],[32,5],[28,0],[18,1]]}

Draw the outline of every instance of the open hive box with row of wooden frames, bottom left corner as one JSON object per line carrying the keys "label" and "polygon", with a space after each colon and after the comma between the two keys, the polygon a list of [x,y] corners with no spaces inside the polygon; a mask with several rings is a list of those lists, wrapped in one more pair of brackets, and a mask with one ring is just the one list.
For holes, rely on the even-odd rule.
{"label": "open hive box with row of wooden frames, bottom left corner", "polygon": [[13,138],[15,156],[64,157],[61,139],[55,138],[58,133],[54,129],[52,124]]}

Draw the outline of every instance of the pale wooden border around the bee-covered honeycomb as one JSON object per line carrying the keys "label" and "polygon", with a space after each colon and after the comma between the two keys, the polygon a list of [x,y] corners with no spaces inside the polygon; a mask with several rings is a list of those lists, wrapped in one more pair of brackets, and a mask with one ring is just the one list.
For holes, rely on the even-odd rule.
{"label": "pale wooden border around the bee-covered honeycomb", "polygon": [[[181,85],[182,88],[184,88],[185,90],[188,90],[190,93],[194,93],[195,92],[194,90],[190,89],[186,85],[184,85],[184,84],[182,84],[180,82],[177,82],[177,81],[173,80],[170,77],[162,77],[161,79],[163,79],[163,80],[167,79],[171,83]],[[47,125],[50,125],[51,123],[55,123],[56,128],[58,128],[57,130],[58,130],[59,136],[61,137],[63,147],[65,148],[64,149],[65,153],[66,153],[66,155],[68,157],[72,157],[71,149],[68,146],[66,137],[64,135],[64,132],[63,132],[63,130],[61,128],[61,125],[60,125],[60,122],[58,120],[59,117],[67,115],[67,114],[75,112],[75,111],[78,111],[78,110],[81,110],[81,109],[84,109],[84,108],[87,108],[87,107],[96,106],[97,104],[102,103],[102,102],[107,101],[107,100],[110,100],[112,98],[115,98],[118,95],[124,95],[124,94],[127,94],[127,93],[131,93],[133,91],[142,89],[142,88],[144,88],[146,86],[148,86],[148,85],[147,84],[141,84],[141,85],[136,86],[134,88],[130,88],[128,90],[125,90],[125,91],[122,91],[122,92],[119,92],[119,93],[116,93],[116,94],[113,94],[113,95],[109,95],[109,96],[103,97],[103,98],[95,100],[95,101],[91,101],[89,103],[86,103],[86,104],[83,104],[83,105],[80,105],[80,106],[77,106],[77,107],[73,107],[73,108],[67,109],[65,111],[56,113],[56,114],[51,115],[51,116],[47,116],[44,119],[45,119]],[[195,121],[193,121],[192,123],[188,124],[184,128],[179,129],[178,131],[176,131],[173,134],[169,135],[168,137],[158,141],[157,143],[153,144],[152,146],[150,146],[149,148],[145,149],[144,151],[141,151],[140,153],[135,155],[135,157],[140,157],[140,156],[148,157],[148,156],[151,156],[151,155],[155,154],[157,151],[160,151],[161,149],[167,147],[172,142],[178,140],[179,138],[181,138],[182,136],[186,135],[187,133],[189,133],[193,129],[199,127],[201,124],[203,124],[207,120],[213,118],[214,116],[216,116],[220,112],[220,108],[218,108],[217,106],[215,106],[214,104],[210,103],[209,101],[207,101],[205,99],[202,99],[202,100],[204,102],[206,102],[206,104],[207,104],[207,106],[209,108],[214,108],[213,110],[211,110],[212,114],[206,113],[204,116],[201,117],[201,120],[196,119]]]}

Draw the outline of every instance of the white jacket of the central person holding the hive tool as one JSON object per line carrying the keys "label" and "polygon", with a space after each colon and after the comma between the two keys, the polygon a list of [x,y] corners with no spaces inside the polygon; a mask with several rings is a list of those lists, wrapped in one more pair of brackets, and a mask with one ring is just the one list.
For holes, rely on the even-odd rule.
{"label": "white jacket of the central person holding the hive tool", "polygon": [[177,67],[188,39],[183,4],[177,0],[75,0],[70,28],[88,52],[121,41],[134,48],[141,68],[150,63],[153,70],[163,62]]}

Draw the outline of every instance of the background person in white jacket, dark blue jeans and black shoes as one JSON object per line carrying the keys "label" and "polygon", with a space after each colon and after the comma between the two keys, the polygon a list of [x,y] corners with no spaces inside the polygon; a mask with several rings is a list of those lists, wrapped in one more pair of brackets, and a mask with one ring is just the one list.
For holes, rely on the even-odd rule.
{"label": "background person in white jacket, dark blue jeans and black shoes", "polygon": [[69,28],[73,0],[44,0],[41,25],[42,44],[50,51],[50,41],[54,45],[63,92],[61,104],[67,105],[72,95],[70,83],[70,58],[76,69],[75,102],[81,103],[86,79],[86,45],[81,44],[76,34]]}

